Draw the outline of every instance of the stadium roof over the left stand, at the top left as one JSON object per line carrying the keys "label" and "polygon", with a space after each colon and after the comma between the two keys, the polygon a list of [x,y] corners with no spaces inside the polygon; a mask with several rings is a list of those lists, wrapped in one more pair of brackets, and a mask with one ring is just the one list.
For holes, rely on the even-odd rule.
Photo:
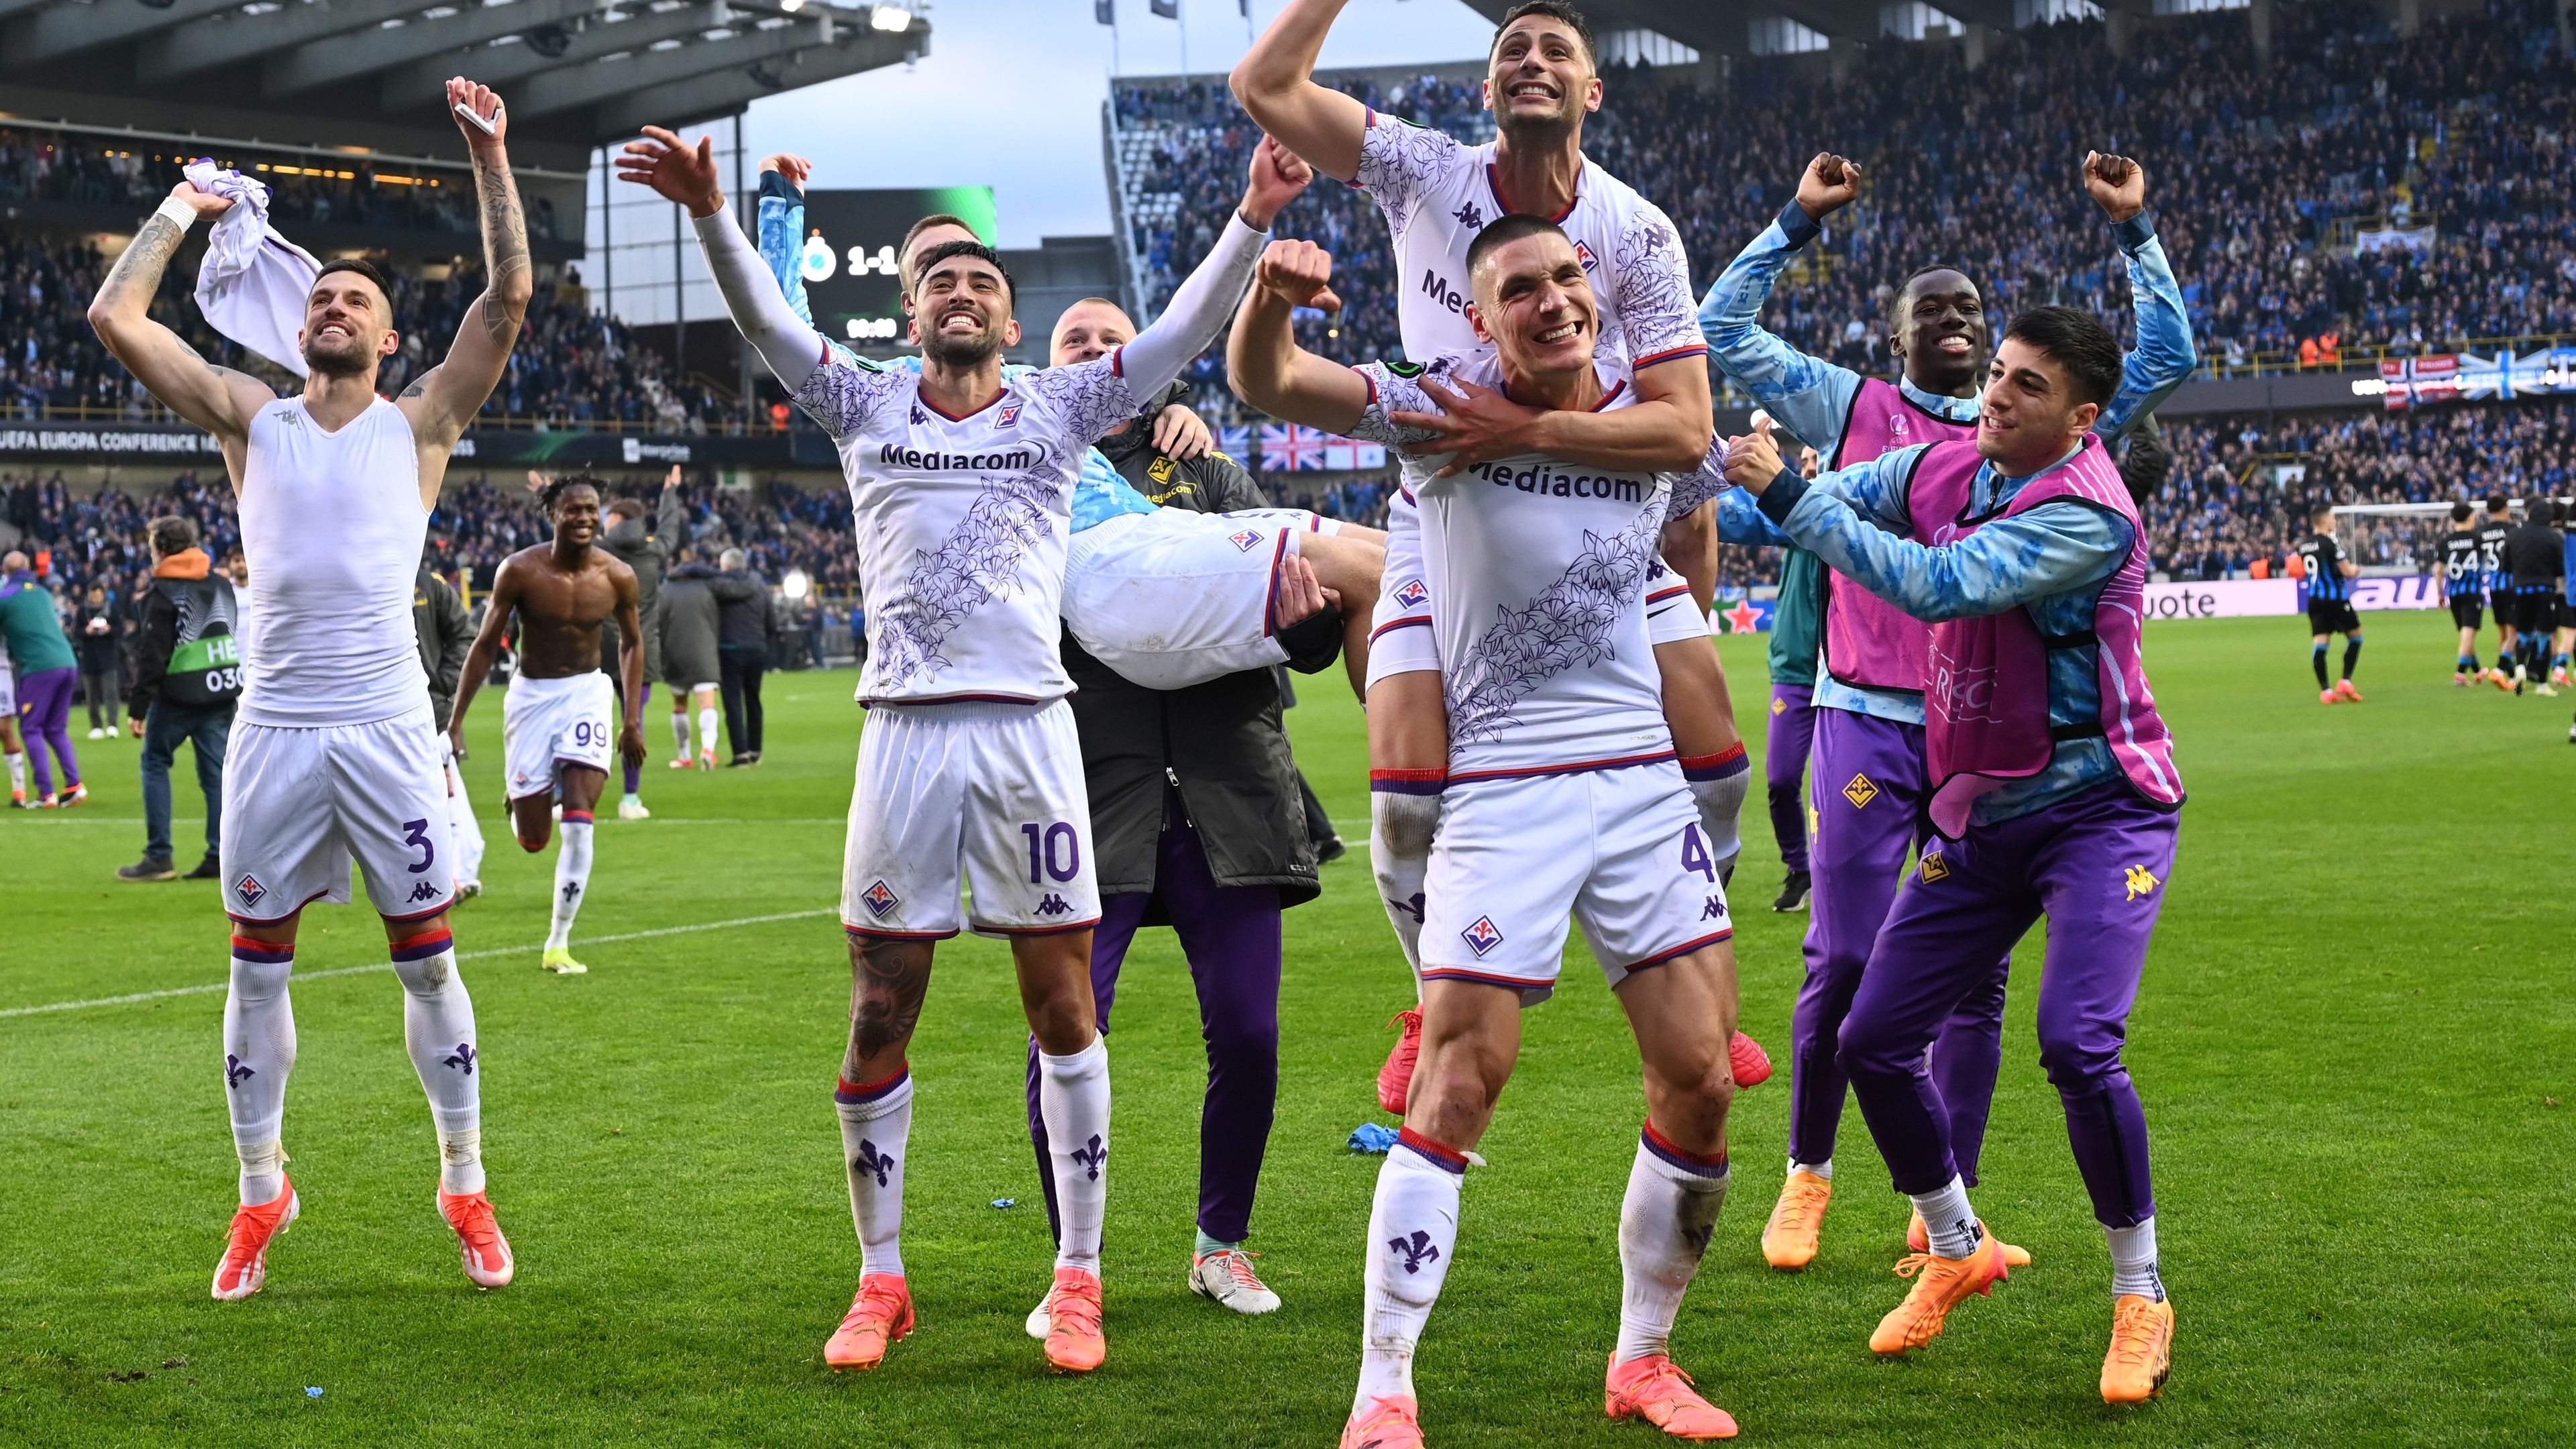
{"label": "stadium roof over the left stand, at the top left", "polygon": [[0,111],[451,152],[440,83],[466,75],[507,101],[513,150],[580,165],[927,49],[904,5],[822,0],[0,0]]}

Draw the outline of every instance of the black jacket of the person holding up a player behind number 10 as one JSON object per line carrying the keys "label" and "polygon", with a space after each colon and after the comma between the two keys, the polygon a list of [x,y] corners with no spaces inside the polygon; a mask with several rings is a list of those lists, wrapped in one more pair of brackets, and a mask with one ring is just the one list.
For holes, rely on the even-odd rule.
{"label": "black jacket of the person holding up a player behind number 10", "polygon": [[[1226,513],[1270,505],[1234,459],[1175,462],[1144,425],[1100,443],[1100,451],[1164,508]],[[1291,642],[1291,665],[1327,668],[1342,642],[1340,611],[1327,608],[1293,634],[1303,639]],[[1275,670],[1157,691],[1087,655],[1072,632],[1064,634],[1064,668],[1077,686],[1072,706],[1092,797],[1100,895],[1154,890],[1164,794],[1175,786],[1216,884],[1273,884],[1280,905],[1303,905],[1321,892]]]}

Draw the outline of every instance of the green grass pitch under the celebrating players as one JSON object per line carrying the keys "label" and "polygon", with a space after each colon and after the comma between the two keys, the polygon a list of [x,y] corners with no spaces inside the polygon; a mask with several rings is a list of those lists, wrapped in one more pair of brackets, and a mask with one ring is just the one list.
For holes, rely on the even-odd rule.
{"label": "green grass pitch under the celebrating players", "polygon": [[[1759,642],[1723,647],[1759,719]],[[2370,704],[2324,709],[2293,619],[2148,634],[2192,802],[2128,1052],[2179,1310],[2174,1382],[2143,1410],[2094,1392],[2110,1266],[2038,1070],[2038,938],[2017,957],[1978,1191],[2038,1263],[1929,1351],[1873,1361],[1906,1209],[1855,1109],[1824,1256],[1801,1276],[1762,1266],[1806,918],[1767,910],[1780,871],[1747,812],[1744,1026],[1783,1075],[1741,1098],[1734,1201],[1674,1336],[1747,1444],[2576,1441],[2576,750],[2566,701],[2455,691],[2450,655],[2442,616],[2375,614]],[[1358,846],[1360,714],[1329,678],[1303,683],[1298,753]],[[1332,1444],[1378,1165],[1342,1140],[1378,1116],[1381,1024],[1406,1003],[1360,851],[1288,915],[1252,1243],[1278,1315],[1234,1318],[1182,1284],[1203,1057],[1180,951],[1149,931],[1113,1036],[1110,1359],[1046,1374],[1020,1333],[1048,1276],[1020,1011],[1005,951],[958,941],[912,1060],[922,1328],[881,1372],[832,1377],[822,1341],[858,1248],[829,1109],[848,1006],[829,908],[860,712],[848,676],[770,676],[768,696],[765,768],[680,776],[657,758],[657,817],[603,817],[580,938],[775,920],[598,941],[577,980],[536,969],[551,853],[510,848],[500,709],[477,712],[492,856],[456,933],[520,1261],[507,1292],[464,1281],[430,1201],[389,975],[296,987],[286,1145],[307,1207],[242,1305],[206,1297],[234,1176],[222,995],[0,1016],[0,1444]],[[647,737],[667,745],[659,709]],[[222,982],[211,887],[111,877],[142,846],[134,753],[88,743],[85,810],[0,820],[0,1008]],[[183,763],[183,861],[188,781]],[[1659,1441],[1600,1408],[1641,1098],[1615,1003],[1574,957],[1530,1018],[1422,1343],[1440,1446]],[[309,915],[301,969],[381,962],[363,908]],[[1018,1207],[989,1207],[1005,1196]]]}

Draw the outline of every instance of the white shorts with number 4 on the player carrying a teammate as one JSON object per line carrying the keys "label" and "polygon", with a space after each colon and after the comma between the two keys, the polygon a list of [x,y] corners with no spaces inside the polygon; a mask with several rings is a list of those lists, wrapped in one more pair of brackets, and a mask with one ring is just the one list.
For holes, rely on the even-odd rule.
{"label": "white shorts with number 4 on the player carrying a teammate", "polygon": [[1422,980],[1556,990],[1566,923],[1615,987],[1734,936],[1718,861],[1672,755],[1620,768],[1450,776],[1422,882]]}

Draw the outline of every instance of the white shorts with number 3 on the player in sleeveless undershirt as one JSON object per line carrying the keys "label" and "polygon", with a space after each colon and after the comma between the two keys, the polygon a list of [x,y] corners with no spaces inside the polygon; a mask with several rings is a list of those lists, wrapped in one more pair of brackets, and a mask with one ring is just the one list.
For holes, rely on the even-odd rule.
{"label": "white shorts with number 3 on the player in sleeveless undershirt", "polygon": [[438,915],[456,895],[448,776],[430,701],[374,724],[232,724],[224,755],[224,910],[283,920],[348,905],[358,861],[379,915]]}

